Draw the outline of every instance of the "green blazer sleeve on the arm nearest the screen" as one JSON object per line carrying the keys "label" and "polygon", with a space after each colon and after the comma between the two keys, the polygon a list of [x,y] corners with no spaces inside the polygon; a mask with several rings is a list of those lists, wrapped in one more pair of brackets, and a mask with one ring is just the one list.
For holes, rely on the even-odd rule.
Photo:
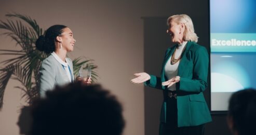
{"label": "green blazer sleeve on the arm nearest the screen", "polygon": [[178,90],[202,92],[206,89],[209,56],[205,47],[200,46],[195,50],[193,64],[192,79],[181,77],[178,83]]}

